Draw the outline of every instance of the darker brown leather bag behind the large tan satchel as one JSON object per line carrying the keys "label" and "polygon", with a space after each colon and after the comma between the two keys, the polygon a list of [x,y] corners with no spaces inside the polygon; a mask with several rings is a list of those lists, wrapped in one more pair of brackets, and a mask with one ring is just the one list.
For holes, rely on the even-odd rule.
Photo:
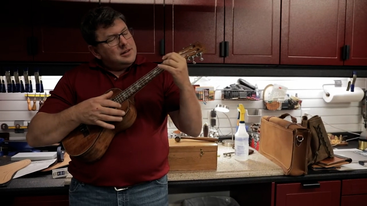
{"label": "darker brown leather bag behind the large tan satchel", "polygon": [[311,130],[311,149],[308,153],[308,165],[313,165],[326,158],[333,158],[333,147],[321,117],[316,115],[307,119],[306,116],[303,116],[301,125]]}

